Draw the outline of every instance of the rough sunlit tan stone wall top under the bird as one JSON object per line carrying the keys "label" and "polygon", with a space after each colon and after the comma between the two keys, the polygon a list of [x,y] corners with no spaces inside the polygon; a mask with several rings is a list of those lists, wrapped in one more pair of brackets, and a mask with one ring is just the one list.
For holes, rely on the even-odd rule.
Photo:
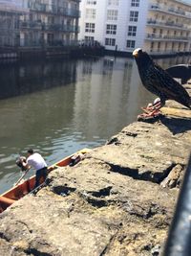
{"label": "rough sunlit tan stone wall top under the bird", "polygon": [[191,111],[169,101],[162,112],[54,170],[1,214],[0,255],[159,255],[191,145]]}

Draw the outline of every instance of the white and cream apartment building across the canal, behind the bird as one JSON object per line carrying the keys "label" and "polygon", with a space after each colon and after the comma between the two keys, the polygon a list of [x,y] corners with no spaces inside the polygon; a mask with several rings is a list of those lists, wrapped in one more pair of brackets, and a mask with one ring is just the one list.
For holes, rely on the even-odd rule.
{"label": "white and cream apartment building across the canal, behind the bird", "polygon": [[191,1],[81,0],[79,39],[106,50],[153,55],[191,51]]}

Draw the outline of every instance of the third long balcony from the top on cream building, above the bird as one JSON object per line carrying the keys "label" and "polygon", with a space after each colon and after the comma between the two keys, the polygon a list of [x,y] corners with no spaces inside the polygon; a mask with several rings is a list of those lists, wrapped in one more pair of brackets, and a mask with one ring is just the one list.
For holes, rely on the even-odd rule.
{"label": "third long balcony from the top on cream building, above the bird", "polygon": [[180,35],[158,35],[158,34],[147,34],[146,40],[151,41],[177,41],[177,42],[188,42],[191,37],[180,36]]}

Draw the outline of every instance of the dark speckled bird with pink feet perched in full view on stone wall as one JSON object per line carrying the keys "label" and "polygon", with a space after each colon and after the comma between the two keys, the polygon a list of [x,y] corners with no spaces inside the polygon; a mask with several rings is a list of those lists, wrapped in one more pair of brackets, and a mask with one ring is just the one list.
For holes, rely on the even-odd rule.
{"label": "dark speckled bird with pink feet perched in full view on stone wall", "polygon": [[154,63],[153,59],[141,48],[133,52],[138,65],[140,79],[147,90],[159,97],[159,101],[152,106],[143,108],[146,116],[156,116],[159,108],[165,105],[166,100],[174,100],[191,109],[191,100],[187,91],[178,81],[175,81],[165,70]]}

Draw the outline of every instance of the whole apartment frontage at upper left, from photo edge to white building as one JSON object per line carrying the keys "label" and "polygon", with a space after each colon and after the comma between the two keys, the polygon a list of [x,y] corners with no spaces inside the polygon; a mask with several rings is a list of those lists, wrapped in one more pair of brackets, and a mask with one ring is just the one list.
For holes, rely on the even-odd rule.
{"label": "whole apartment frontage at upper left, from photo edge to white building", "polygon": [[76,45],[79,2],[80,0],[0,0],[1,46]]}

